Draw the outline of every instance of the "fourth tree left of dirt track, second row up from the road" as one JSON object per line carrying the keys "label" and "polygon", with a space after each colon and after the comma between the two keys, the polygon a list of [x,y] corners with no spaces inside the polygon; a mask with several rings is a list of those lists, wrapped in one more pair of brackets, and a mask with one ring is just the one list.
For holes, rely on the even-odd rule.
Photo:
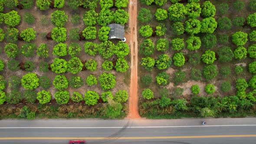
{"label": "fourth tree left of dirt track, second row up from the road", "polygon": [[56,75],[53,80],[54,88],[64,90],[69,87],[69,81],[65,75]]}

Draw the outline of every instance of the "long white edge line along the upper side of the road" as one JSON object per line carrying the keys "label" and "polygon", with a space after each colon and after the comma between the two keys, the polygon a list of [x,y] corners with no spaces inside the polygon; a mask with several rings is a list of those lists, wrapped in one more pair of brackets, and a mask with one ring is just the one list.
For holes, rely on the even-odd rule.
{"label": "long white edge line along the upper side of the road", "polygon": [[234,127],[234,126],[256,126],[256,124],[243,125],[191,125],[191,126],[152,126],[152,127],[0,127],[0,129],[8,128],[189,128],[189,127]]}

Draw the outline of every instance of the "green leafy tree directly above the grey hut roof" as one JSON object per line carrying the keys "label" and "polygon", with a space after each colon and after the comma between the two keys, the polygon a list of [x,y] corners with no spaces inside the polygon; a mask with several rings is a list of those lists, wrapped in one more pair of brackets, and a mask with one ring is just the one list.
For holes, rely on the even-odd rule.
{"label": "green leafy tree directly above the grey hut roof", "polygon": [[121,24],[121,25],[125,25],[125,23],[127,23],[128,19],[129,19],[129,13],[127,13],[123,9],[115,10],[115,13],[114,13],[113,16],[114,16],[115,23],[118,23],[118,24]]}

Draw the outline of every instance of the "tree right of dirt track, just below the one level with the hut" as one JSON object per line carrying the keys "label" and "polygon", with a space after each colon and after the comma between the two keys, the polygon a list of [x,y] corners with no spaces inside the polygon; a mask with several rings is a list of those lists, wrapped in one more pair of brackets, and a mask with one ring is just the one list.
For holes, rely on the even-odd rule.
{"label": "tree right of dirt track, just below the one level with the hut", "polygon": [[139,52],[144,56],[150,56],[154,52],[154,43],[151,39],[144,39],[140,45]]}

